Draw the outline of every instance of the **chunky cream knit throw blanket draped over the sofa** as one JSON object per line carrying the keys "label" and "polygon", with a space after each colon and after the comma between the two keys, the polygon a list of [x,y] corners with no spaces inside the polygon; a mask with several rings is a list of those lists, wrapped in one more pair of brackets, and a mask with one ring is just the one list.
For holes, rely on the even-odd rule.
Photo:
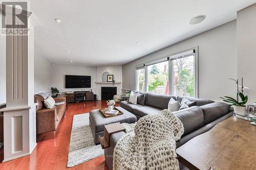
{"label": "chunky cream knit throw blanket draped over the sofa", "polygon": [[140,118],[134,131],[118,140],[113,169],[179,169],[175,150],[183,133],[180,119],[167,109]]}

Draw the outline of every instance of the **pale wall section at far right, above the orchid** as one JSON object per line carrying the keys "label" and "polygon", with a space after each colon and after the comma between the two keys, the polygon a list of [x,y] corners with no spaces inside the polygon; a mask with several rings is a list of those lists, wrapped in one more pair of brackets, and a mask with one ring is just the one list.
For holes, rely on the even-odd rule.
{"label": "pale wall section at far right, above the orchid", "polygon": [[248,104],[256,102],[256,4],[237,13],[238,78],[244,78]]}

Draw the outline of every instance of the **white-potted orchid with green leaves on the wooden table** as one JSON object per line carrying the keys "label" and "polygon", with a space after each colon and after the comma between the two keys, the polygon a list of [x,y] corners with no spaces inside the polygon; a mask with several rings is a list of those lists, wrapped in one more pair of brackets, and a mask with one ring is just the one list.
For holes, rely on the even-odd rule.
{"label": "white-potted orchid with green leaves on the wooden table", "polygon": [[[246,103],[248,101],[248,96],[244,96],[243,93],[241,93],[240,91],[237,92],[238,94],[238,98],[237,100],[236,99],[233,99],[233,98],[230,98],[229,96],[224,96],[224,98],[221,98],[223,99],[224,102],[228,102],[228,103],[231,103],[233,108],[234,108],[234,112],[237,113],[237,114],[240,114],[240,115],[244,115],[245,112],[246,112]],[[240,98],[240,100],[239,100]]]}

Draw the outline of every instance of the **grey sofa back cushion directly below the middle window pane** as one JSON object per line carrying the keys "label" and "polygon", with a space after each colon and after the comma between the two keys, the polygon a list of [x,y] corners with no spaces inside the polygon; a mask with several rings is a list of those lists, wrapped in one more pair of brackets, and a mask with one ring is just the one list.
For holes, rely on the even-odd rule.
{"label": "grey sofa back cushion directly below the middle window pane", "polygon": [[172,98],[172,96],[170,95],[148,93],[146,105],[156,107],[159,109],[167,109],[170,98]]}

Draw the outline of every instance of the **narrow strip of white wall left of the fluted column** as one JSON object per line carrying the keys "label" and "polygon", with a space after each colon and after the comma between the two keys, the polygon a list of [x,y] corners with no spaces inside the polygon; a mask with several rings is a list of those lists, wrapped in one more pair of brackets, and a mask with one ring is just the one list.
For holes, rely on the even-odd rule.
{"label": "narrow strip of white wall left of the fluted column", "polygon": [[[0,17],[2,17],[0,15]],[[6,37],[0,35],[0,106],[6,103]]]}

